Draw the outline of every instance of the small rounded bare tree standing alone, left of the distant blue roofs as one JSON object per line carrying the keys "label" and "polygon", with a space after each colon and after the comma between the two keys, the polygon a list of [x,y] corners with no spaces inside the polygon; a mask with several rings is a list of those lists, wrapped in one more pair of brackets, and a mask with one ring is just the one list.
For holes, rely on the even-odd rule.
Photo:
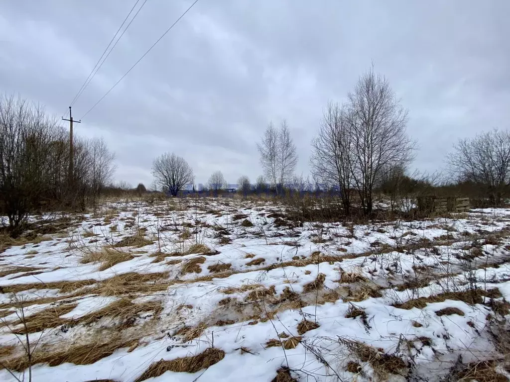
{"label": "small rounded bare tree standing alone, left of the distant blue roofs", "polygon": [[193,183],[193,169],[184,158],[174,153],[164,153],[152,162],[152,176],[161,188],[177,196],[186,184]]}

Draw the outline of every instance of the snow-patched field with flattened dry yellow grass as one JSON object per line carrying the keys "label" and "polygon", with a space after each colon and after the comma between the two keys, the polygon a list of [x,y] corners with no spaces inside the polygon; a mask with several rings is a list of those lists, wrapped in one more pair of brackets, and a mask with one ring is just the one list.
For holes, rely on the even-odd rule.
{"label": "snow-patched field with flattened dry yellow grass", "polygon": [[29,380],[27,337],[36,382],[510,377],[510,210],[353,225],[190,198],[69,219],[0,243],[2,381]]}

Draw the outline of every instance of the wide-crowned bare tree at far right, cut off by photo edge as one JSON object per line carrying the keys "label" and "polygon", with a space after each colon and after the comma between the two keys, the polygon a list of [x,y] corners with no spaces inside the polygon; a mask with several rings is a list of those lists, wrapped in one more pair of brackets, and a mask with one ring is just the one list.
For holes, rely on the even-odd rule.
{"label": "wide-crowned bare tree at far right, cut off by photo edge", "polygon": [[510,133],[494,129],[462,139],[448,155],[451,172],[460,181],[475,183],[499,205],[510,184]]}

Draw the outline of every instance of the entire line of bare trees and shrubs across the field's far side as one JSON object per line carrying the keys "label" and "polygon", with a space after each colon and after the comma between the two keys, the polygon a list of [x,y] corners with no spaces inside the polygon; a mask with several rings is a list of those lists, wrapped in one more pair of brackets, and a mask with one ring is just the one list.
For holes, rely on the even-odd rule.
{"label": "entire line of bare trees and shrubs across the field's far side", "polygon": [[[270,122],[257,144],[263,175],[253,183],[241,176],[238,192],[283,196],[289,190],[334,190],[345,215],[354,200],[370,215],[374,192],[389,196],[392,207],[419,187],[433,193],[439,182],[416,172],[409,174],[418,146],[407,134],[407,121],[408,112],[388,79],[372,67],[344,100],[331,100],[325,106],[311,142],[312,179],[295,174],[298,155],[288,123]],[[140,195],[146,192],[141,183],[136,189],[111,185],[115,155],[101,138],[74,138],[70,175],[69,132],[59,122],[39,104],[0,95],[0,212],[11,229],[37,211],[84,210],[88,204],[95,206],[101,194],[128,189]],[[500,205],[508,196],[508,131],[493,129],[461,139],[446,160],[449,177],[443,179],[443,190],[469,192],[490,205]],[[155,158],[151,173],[155,187],[172,196],[194,183],[193,169],[175,153]],[[226,187],[221,171],[215,171],[205,189],[217,195]]]}

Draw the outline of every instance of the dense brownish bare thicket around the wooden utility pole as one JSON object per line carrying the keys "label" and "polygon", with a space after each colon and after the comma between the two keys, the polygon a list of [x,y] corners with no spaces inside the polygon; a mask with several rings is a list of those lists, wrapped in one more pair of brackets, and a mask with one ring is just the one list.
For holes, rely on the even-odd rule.
{"label": "dense brownish bare thicket around the wooden utility pole", "polygon": [[70,175],[69,132],[58,122],[39,104],[0,95],[0,212],[11,230],[37,211],[95,206],[113,178],[115,155],[102,138],[74,137]]}

